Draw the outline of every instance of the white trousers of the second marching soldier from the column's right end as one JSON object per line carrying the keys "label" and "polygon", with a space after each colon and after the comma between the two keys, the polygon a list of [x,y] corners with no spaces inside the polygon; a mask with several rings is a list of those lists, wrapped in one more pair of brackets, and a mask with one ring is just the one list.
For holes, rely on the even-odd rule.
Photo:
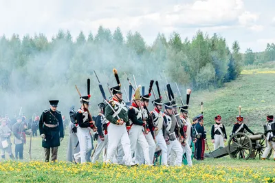
{"label": "white trousers of the second marching soldier from the column's right end", "polygon": [[[175,166],[181,166],[182,164],[182,155],[183,155],[183,150],[181,148],[181,144],[178,140],[173,140],[170,141],[170,144],[167,145],[168,147],[168,155],[170,154],[170,151],[175,151],[176,158],[173,160],[173,158],[170,159],[170,165],[175,165]],[[172,159],[172,160],[171,160]]]}

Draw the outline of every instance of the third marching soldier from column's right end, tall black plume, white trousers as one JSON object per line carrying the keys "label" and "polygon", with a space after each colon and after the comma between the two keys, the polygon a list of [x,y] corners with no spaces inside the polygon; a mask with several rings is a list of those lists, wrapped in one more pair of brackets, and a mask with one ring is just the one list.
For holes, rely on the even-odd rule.
{"label": "third marching soldier from column's right end, tall black plume, white trousers", "polygon": [[159,83],[158,81],[155,82],[155,85],[157,86],[157,93],[159,95],[159,98],[155,99],[152,101],[153,106],[155,107],[153,109],[153,111],[151,111],[152,117],[153,117],[153,130],[155,131],[155,140],[156,140],[156,144],[157,146],[159,146],[159,148],[162,151],[162,165],[167,166],[167,144],[166,141],[164,139],[164,118],[163,118],[163,114],[162,114],[162,96],[160,94],[159,91]]}

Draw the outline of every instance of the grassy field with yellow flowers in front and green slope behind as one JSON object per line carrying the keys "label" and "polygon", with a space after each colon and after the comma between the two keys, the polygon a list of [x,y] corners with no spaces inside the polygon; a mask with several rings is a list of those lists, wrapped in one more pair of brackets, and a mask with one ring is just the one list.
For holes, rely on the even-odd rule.
{"label": "grassy field with yellow flowers in front and green slope behind", "polygon": [[[199,103],[204,103],[206,129],[211,128],[214,116],[220,114],[226,126],[228,138],[243,107],[245,123],[254,132],[263,132],[267,114],[274,114],[275,69],[244,70],[241,77],[214,92],[192,93],[190,116],[200,113]],[[0,182],[275,182],[275,166],[271,160],[220,159],[193,160],[193,167],[137,166],[73,164],[65,162],[68,131],[58,149],[58,162],[44,163],[41,138],[32,138],[32,161],[28,155],[30,139],[24,146],[23,161],[0,162]],[[208,131],[210,149],[210,131]],[[96,142],[94,142],[94,145]],[[12,145],[14,151],[14,144]],[[206,151],[208,152],[208,151]]]}

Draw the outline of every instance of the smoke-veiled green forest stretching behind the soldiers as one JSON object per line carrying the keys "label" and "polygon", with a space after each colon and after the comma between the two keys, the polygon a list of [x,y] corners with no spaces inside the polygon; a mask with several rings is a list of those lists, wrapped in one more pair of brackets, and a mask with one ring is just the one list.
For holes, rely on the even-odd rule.
{"label": "smoke-veiled green forest stretching behind the soldiers", "polygon": [[[243,54],[238,41],[228,45],[217,34],[195,32],[185,38],[177,32],[168,38],[157,34],[148,45],[139,32],[124,37],[120,28],[111,32],[100,26],[97,34],[80,32],[75,40],[69,30],[60,30],[48,40],[45,34],[13,34],[0,38],[0,113],[25,113],[47,109],[47,100],[61,100],[61,109],[79,105],[75,85],[85,95],[86,80],[91,78],[92,106],[102,100],[94,70],[108,93],[107,83],[114,86],[112,69],[118,69],[122,87],[128,88],[126,77],[148,89],[151,79],[166,85],[177,82],[181,92],[222,87],[236,79],[245,65],[261,65],[275,60],[274,43],[265,52],[250,48]],[[133,81],[132,81],[133,83]],[[124,98],[126,100],[126,98]],[[94,102],[93,102],[94,101]]]}

